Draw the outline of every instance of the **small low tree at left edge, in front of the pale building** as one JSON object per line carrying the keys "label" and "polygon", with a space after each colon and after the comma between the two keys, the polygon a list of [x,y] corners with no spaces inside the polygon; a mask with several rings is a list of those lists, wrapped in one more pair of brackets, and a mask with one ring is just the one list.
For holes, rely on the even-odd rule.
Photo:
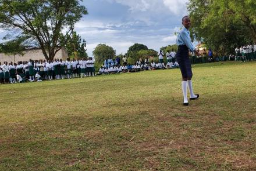
{"label": "small low tree at left edge, in front of the pale building", "polygon": [[24,46],[20,45],[20,42],[17,41],[9,41],[6,43],[1,43],[0,44],[0,53],[5,53],[9,55],[13,55],[14,57],[14,62],[16,63],[16,55],[24,55]]}

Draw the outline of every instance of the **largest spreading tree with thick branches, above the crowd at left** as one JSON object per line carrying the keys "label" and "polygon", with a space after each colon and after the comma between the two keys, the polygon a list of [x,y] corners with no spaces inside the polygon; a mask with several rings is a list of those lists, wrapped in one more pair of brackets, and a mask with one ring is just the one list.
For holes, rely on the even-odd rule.
{"label": "largest spreading tree with thick branches, above the crowd at left", "polygon": [[54,59],[74,23],[88,13],[80,1],[0,0],[0,27],[10,32],[5,39],[21,41],[25,49],[40,48],[45,59]]}

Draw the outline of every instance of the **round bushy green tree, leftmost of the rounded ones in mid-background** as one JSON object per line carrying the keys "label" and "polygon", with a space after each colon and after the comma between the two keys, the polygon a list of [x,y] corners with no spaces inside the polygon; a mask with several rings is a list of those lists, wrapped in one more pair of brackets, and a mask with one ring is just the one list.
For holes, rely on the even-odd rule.
{"label": "round bushy green tree, leftmost of the rounded ones in mid-background", "polygon": [[116,55],[116,51],[111,46],[99,44],[94,48],[93,55],[96,63],[102,64],[106,59],[113,59]]}

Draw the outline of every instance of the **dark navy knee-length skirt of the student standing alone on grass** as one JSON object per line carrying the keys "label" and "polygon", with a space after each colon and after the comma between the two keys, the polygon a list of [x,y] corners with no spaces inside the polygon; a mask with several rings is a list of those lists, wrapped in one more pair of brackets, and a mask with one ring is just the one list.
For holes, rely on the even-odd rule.
{"label": "dark navy knee-length skirt of the student standing alone on grass", "polygon": [[176,54],[177,62],[179,63],[182,78],[192,78],[191,61],[189,59],[189,48],[186,45],[179,46]]}

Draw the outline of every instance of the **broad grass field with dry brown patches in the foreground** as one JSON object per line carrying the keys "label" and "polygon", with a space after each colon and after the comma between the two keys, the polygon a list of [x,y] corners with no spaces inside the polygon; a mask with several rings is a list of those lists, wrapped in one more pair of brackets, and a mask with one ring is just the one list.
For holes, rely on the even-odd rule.
{"label": "broad grass field with dry brown patches in the foreground", "polygon": [[256,63],[0,85],[0,170],[255,170]]}

